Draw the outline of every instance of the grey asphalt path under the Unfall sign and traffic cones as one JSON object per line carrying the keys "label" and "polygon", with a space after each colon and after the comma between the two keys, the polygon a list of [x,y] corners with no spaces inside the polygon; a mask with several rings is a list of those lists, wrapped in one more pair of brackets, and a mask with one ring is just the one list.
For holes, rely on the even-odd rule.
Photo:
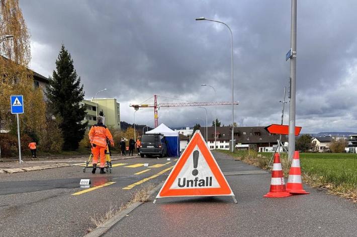
{"label": "grey asphalt path under the Unfall sign and traffic cones", "polygon": [[104,236],[357,236],[357,205],[349,200],[306,185],[308,195],[263,198],[271,174],[214,155],[229,174],[237,204],[231,197],[160,198],[140,205]]}

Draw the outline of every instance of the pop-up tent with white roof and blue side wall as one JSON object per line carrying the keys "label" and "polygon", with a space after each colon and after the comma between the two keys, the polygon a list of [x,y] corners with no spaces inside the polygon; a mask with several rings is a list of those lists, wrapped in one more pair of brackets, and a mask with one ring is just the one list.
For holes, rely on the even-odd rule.
{"label": "pop-up tent with white roof and blue side wall", "polygon": [[157,134],[162,133],[165,137],[167,144],[167,154],[169,156],[180,156],[180,138],[179,132],[175,132],[168,128],[165,124],[161,123],[156,128],[147,131],[145,134]]}

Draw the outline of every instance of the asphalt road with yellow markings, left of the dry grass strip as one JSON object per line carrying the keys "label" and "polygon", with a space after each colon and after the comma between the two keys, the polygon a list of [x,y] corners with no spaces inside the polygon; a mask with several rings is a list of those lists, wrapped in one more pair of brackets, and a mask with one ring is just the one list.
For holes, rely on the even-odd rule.
{"label": "asphalt road with yellow markings, left of the dry grass strip", "polygon": [[[174,159],[118,160],[113,173],[106,174],[92,174],[91,168],[83,173],[80,166],[0,174],[0,236],[83,236],[93,226],[91,217],[125,204],[142,185],[164,180]],[[159,172],[163,174],[128,187]],[[79,187],[81,178],[90,178],[91,187],[106,186],[73,195],[87,190]]]}

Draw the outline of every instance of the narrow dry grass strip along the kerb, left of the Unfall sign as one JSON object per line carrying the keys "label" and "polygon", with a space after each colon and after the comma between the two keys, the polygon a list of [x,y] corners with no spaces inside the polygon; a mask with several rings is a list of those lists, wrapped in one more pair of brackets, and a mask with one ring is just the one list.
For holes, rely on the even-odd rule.
{"label": "narrow dry grass strip along the kerb, left of the Unfall sign", "polygon": [[143,186],[141,189],[137,189],[135,192],[131,193],[130,200],[127,203],[122,204],[119,209],[116,209],[116,207],[110,207],[109,210],[103,215],[95,214],[93,217],[91,217],[92,225],[88,227],[86,233],[93,231],[95,228],[108,221],[118,212],[128,208],[128,206],[130,206],[131,204],[135,202],[150,201],[150,190],[153,189],[154,187],[155,186],[153,183],[148,183],[145,186]]}

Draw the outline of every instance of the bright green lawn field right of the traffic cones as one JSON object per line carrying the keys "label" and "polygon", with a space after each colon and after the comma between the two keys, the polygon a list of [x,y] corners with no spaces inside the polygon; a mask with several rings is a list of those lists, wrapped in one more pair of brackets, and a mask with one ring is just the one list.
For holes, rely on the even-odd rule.
{"label": "bright green lawn field right of the traffic cones", "polygon": [[301,153],[302,172],[321,181],[357,188],[357,154]]}

